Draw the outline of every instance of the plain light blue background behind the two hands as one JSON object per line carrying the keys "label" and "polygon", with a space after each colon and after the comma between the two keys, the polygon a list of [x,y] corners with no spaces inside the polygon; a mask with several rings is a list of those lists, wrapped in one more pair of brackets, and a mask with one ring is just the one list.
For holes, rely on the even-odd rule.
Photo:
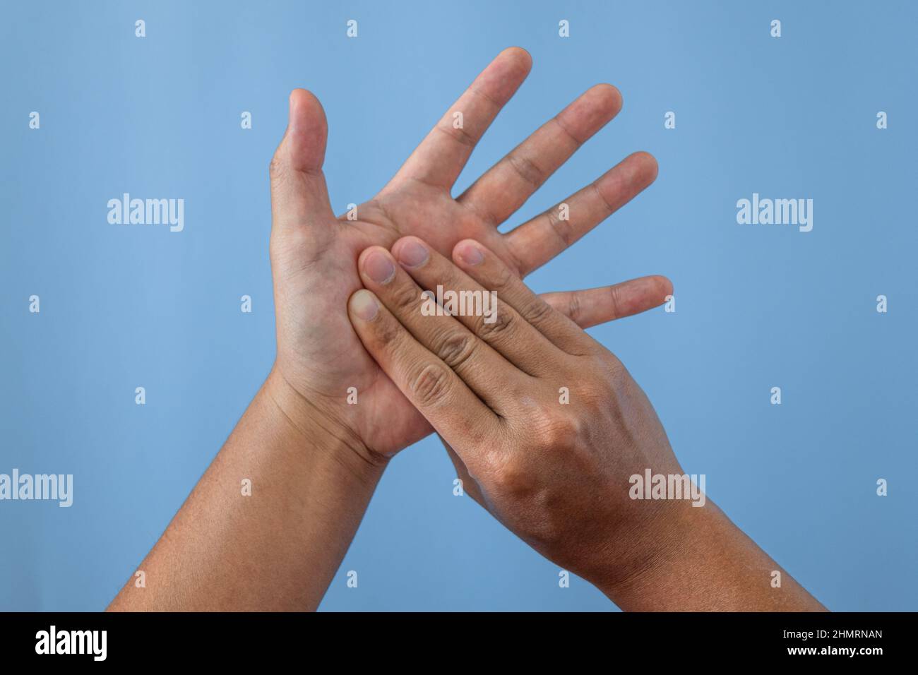
{"label": "plain light blue background behind the two hands", "polygon": [[[5,3],[0,473],[72,473],[74,502],[0,502],[0,609],[104,608],[267,374],[267,166],[289,90],[326,109],[341,212],[510,45],[532,53],[532,75],[457,189],[591,84],[616,84],[618,118],[511,223],[636,150],[659,178],[532,287],[669,276],[675,314],[592,332],[683,467],[830,609],[918,609],[916,5],[433,5]],[[109,225],[122,192],[185,198],[185,231]],[[812,198],[812,232],[738,225],[753,192]],[[560,589],[552,563],[453,497],[453,478],[435,438],[397,456],[322,608],[614,609],[581,579]]]}

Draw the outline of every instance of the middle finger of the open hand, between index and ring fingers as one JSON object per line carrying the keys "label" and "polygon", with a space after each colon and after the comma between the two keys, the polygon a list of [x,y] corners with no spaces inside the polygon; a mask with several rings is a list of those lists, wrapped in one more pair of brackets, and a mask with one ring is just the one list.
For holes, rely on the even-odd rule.
{"label": "middle finger of the open hand, between index and ring fingers", "polygon": [[619,110],[621,94],[614,86],[588,89],[488,169],[457,201],[497,227]]}

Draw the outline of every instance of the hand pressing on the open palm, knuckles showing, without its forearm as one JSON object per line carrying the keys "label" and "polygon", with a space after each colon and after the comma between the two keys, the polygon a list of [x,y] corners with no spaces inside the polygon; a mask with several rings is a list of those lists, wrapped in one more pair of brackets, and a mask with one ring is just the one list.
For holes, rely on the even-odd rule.
{"label": "hand pressing on the open palm, knuckles showing, without its forearm", "polygon": [[[361,255],[369,290],[350,307],[367,351],[441,434],[465,491],[501,523],[587,579],[640,568],[659,516],[673,509],[630,499],[629,478],[646,468],[682,474],[644,392],[498,255],[465,241],[453,260],[415,237],[391,254]],[[496,321],[422,314],[421,292],[438,286],[496,291]]]}

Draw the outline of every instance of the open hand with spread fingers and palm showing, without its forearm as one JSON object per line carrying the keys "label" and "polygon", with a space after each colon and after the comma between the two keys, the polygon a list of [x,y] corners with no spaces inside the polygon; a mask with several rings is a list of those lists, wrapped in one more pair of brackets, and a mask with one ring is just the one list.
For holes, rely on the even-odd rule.
{"label": "open hand with spread fingers and palm showing, without its forearm", "polygon": [[[319,101],[303,90],[290,96],[285,137],[271,163],[271,260],[277,359],[268,391],[292,420],[318,417],[326,431],[377,463],[414,443],[431,427],[366,354],[345,302],[361,281],[354,269],[366,247],[388,247],[418,235],[449,253],[462,239],[486,242],[514,276],[524,276],[576,242],[653,182],[656,163],[639,152],[567,197],[558,209],[508,234],[497,227],[621,107],[618,91],[599,84],[523,141],[463,195],[450,190],[476,142],[529,72],[520,49],[503,51],[443,116],[392,181],[356,209],[357,219],[332,213],[321,166],[327,127]],[[453,129],[453,111],[464,129]],[[618,286],[549,294],[545,300],[582,326],[628,316],[664,301],[661,276]],[[348,388],[357,405],[346,402]],[[296,410],[295,410],[296,409]],[[318,415],[316,414],[318,412]]]}

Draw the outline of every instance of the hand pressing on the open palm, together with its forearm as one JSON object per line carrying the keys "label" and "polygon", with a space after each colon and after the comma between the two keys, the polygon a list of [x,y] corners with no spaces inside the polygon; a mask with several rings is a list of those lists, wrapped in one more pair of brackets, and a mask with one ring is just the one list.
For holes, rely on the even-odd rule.
{"label": "hand pressing on the open palm, together with its forearm", "polygon": [[[366,350],[441,435],[467,493],[543,556],[624,610],[823,610],[711,501],[632,498],[646,468],[684,474],[653,406],[496,252],[459,242],[451,261],[406,237],[359,268],[349,309]],[[423,312],[438,286],[495,291],[495,321]]]}

